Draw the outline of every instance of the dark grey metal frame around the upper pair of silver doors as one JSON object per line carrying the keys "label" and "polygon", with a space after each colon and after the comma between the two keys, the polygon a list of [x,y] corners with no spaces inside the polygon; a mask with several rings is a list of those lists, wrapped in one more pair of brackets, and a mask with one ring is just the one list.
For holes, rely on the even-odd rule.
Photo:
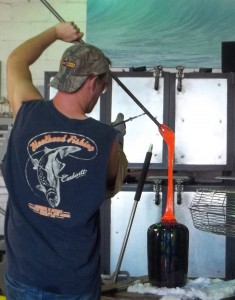
{"label": "dark grey metal frame around the upper pair of silver doors", "polygon": [[[50,88],[48,84],[51,80],[51,77],[55,76],[56,72],[45,72],[45,86],[44,86],[44,95],[45,99],[49,99]],[[154,71],[145,71],[145,72],[113,72],[113,74],[122,80],[124,77],[130,78],[146,78],[154,77]],[[163,103],[163,123],[167,124],[173,130],[175,129],[175,98],[176,98],[176,73],[162,72],[162,77],[164,78],[164,103]],[[201,165],[201,164],[175,164],[175,171],[219,171],[219,172],[231,172],[233,171],[235,165],[235,141],[233,139],[235,133],[235,122],[233,122],[233,115],[235,113],[235,107],[233,103],[233,97],[235,95],[235,79],[234,73],[203,73],[203,72],[193,72],[193,73],[184,73],[182,78],[182,84],[184,78],[192,79],[208,79],[208,78],[225,78],[227,79],[227,163],[226,165]],[[100,103],[100,120],[106,123],[111,123],[112,115],[112,90],[113,83],[115,81],[109,76],[109,89],[106,94],[101,96]],[[154,87],[153,87],[154,88]],[[141,102],[141,99],[140,99]],[[144,105],[144,103],[142,103]],[[121,107],[120,107],[121,109]],[[143,128],[144,130],[144,128]],[[157,128],[156,128],[157,130]],[[162,159],[161,163],[151,163],[151,170],[166,170],[167,169],[167,148],[163,142],[162,150]],[[142,163],[130,163],[129,167],[131,169],[140,169]]]}

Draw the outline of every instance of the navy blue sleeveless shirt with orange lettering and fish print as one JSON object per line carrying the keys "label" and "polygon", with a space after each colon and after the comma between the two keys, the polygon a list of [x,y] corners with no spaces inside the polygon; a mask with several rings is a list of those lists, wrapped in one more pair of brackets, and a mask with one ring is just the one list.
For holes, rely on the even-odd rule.
{"label": "navy blue sleeveless shirt with orange lettering and fish print", "polygon": [[3,161],[13,279],[58,294],[100,286],[99,207],[115,136],[92,118],[65,117],[52,101],[23,103]]}

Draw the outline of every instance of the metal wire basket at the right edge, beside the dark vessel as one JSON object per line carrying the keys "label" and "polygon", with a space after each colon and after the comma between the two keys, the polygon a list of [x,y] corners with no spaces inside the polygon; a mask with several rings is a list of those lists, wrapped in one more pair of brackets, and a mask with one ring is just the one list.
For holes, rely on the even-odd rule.
{"label": "metal wire basket at the right edge, beside the dark vessel", "polygon": [[235,237],[235,190],[199,189],[189,209],[197,229]]}

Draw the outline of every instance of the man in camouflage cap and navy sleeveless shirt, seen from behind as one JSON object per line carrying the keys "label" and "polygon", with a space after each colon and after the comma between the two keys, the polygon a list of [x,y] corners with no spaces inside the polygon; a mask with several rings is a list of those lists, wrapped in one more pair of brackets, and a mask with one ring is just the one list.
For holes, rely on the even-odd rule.
{"label": "man in camouflage cap and navy sleeveless shirt, seen from behind", "polygon": [[[14,127],[3,162],[7,299],[100,299],[99,207],[120,189],[127,160],[113,127],[87,117],[110,61],[73,23],[59,23],[7,61]],[[44,101],[32,65],[56,40],[69,47]],[[119,133],[120,134],[120,133]],[[124,133],[123,133],[124,134]]]}

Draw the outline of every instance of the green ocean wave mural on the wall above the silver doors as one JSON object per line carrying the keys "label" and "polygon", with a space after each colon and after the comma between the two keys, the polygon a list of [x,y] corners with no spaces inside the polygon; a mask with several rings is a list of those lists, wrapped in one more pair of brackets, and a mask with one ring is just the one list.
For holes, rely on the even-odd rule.
{"label": "green ocean wave mural on the wall above the silver doors", "polygon": [[87,0],[87,43],[113,67],[221,68],[234,0]]}

